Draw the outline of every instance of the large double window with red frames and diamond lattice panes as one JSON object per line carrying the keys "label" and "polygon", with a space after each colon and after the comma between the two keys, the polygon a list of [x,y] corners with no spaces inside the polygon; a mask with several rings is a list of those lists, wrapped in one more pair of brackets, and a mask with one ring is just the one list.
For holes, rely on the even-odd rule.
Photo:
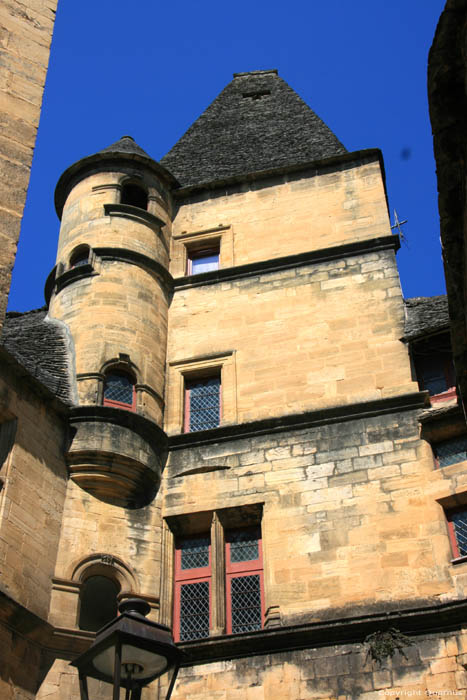
{"label": "large double window with red frames and diamond lattice panes", "polygon": [[[221,528],[221,531],[224,532]],[[213,598],[225,600],[220,633],[240,634],[263,627],[264,587],[259,526],[226,530],[213,574],[211,534],[179,539],[175,548],[174,632],[177,641],[209,637]],[[220,563],[222,562],[222,563]],[[224,568],[225,562],[225,568]],[[219,572],[218,569],[218,572]],[[222,590],[213,591],[216,585]],[[224,583],[223,583],[224,582]],[[223,605],[223,603],[222,603]],[[219,621],[217,621],[219,623]]]}

